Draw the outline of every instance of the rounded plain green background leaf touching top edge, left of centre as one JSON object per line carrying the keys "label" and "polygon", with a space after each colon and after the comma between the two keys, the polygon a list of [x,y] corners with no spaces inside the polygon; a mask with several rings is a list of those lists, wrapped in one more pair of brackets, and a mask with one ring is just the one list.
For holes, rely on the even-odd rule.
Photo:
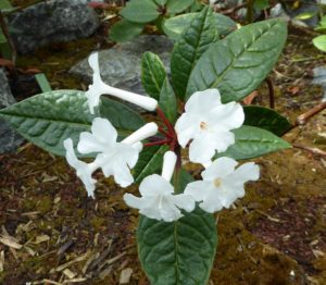
{"label": "rounded plain green background leaf touching top edge, left of centre", "polygon": [[160,15],[158,5],[152,0],[131,0],[121,11],[121,15],[134,23],[149,23]]}

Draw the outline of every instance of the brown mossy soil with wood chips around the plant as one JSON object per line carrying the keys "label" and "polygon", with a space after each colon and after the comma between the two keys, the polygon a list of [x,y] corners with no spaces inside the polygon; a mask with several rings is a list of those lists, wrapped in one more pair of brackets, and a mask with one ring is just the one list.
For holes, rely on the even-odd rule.
{"label": "brown mossy soil with wood chips around the plant", "polygon": [[[291,122],[321,102],[312,69],[325,65],[313,35],[290,29],[271,73],[276,110]],[[52,88],[85,86],[67,70],[97,49],[101,35],[20,57],[20,69],[45,72]],[[100,44],[99,44],[100,42]],[[105,44],[110,46],[111,44]],[[59,48],[58,48],[59,47]],[[254,103],[267,106],[265,84]],[[325,110],[284,138],[326,151]],[[218,248],[210,285],[326,284],[326,158],[292,148],[255,160],[261,178],[233,209],[216,214]],[[198,172],[193,165],[190,171]],[[63,158],[25,144],[0,156],[0,284],[149,284],[137,259],[137,211],[112,179],[99,179],[96,199]]]}

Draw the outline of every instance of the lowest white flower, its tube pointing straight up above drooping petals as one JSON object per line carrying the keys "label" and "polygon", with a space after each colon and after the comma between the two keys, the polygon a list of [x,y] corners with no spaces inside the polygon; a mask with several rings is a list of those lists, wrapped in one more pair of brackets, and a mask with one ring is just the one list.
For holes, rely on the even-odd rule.
{"label": "lowest white flower, its tube pointing straight up above drooping petals", "polygon": [[147,176],[139,186],[141,197],[125,194],[125,202],[150,219],[165,222],[176,221],[183,216],[180,209],[191,212],[195,200],[190,195],[174,195],[174,187],[170,181],[176,163],[176,156],[172,151],[164,154],[162,176],[152,174]]}

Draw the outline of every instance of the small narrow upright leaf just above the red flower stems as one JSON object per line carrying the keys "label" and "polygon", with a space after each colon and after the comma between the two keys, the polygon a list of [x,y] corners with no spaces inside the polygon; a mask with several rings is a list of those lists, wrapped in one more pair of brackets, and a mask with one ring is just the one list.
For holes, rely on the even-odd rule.
{"label": "small narrow upright leaf just above the red flower stems", "polygon": [[175,123],[177,117],[177,100],[174,90],[166,78],[160,94],[159,106],[171,123]]}

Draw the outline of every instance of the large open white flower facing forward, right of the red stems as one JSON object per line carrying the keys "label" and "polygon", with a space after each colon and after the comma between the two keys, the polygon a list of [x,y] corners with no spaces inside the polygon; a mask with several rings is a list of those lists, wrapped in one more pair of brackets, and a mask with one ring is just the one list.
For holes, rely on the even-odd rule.
{"label": "large open white flower facing forward, right of the red stems", "polygon": [[223,104],[217,89],[195,92],[185,106],[185,113],[175,125],[178,141],[189,147],[192,162],[206,163],[215,151],[223,152],[235,144],[230,129],[244,121],[242,107],[236,102]]}

